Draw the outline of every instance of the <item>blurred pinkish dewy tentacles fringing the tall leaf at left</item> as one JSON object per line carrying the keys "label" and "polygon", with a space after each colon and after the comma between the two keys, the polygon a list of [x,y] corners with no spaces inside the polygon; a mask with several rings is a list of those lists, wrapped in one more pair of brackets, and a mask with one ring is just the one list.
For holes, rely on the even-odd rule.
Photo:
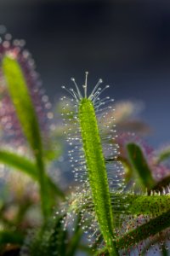
{"label": "blurred pinkish dewy tentacles fringing the tall leaf at left", "polygon": [[[2,27],[2,29],[1,29]],[[42,82],[38,73],[35,71],[35,62],[31,58],[31,54],[25,49],[25,41],[13,39],[9,33],[6,33],[3,26],[0,27],[0,119],[3,137],[6,140],[14,141],[19,145],[25,142],[20,129],[19,121],[16,117],[14,106],[8,96],[7,86],[3,77],[1,62],[4,55],[9,55],[16,59],[23,71],[26,84],[31,95],[31,100],[37,113],[39,125],[42,132],[47,134],[49,129],[54,129],[52,122],[53,113],[51,111],[51,103],[45,91],[42,89]],[[47,121],[48,120],[48,121]]]}

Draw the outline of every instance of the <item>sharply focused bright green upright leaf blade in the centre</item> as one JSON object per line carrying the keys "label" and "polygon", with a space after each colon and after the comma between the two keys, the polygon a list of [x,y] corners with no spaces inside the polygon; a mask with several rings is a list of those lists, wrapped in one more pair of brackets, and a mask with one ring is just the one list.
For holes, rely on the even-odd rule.
{"label": "sharply focused bright green upright leaf blade in the centre", "polygon": [[82,98],[78,107],[82,148],[88,167],[95,214],[110,255],[117,255],[114,244],[114,217],[111,209],[109,183],[94,104],[88,98]]}

